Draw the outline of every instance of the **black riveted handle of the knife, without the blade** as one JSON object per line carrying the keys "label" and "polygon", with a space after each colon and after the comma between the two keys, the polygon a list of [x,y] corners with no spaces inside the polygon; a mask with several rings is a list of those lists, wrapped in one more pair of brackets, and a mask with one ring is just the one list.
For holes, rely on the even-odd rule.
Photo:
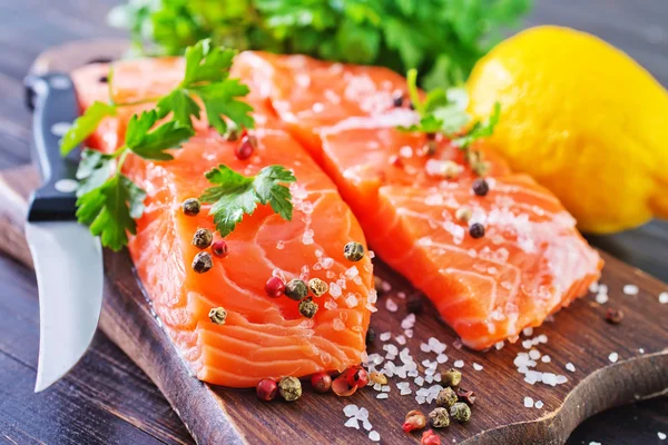
{"label": "black riveted handle of the knife, without the blade", "polygon": [[60,156],[60,138],[79,116],[71,79],[62,73],[29,76],[26,97],[33,109],[33,160],[43,184],[30,198],[29,221],[76,219],[76,172],[80,151]]}

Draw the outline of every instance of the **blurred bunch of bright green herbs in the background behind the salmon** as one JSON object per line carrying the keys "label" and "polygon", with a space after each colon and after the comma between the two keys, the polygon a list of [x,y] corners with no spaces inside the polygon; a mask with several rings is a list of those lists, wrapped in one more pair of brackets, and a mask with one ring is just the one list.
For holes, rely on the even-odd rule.
{"label": "blurred bunch of bright green herbs in the background behind the salmon", "polygon": [[[129,0],[109,16],[143,53],[197,40],[325,60],[416,68],[424,88],[464,81],[532,0]],[[147,44],[148,43],[148,44]]]}

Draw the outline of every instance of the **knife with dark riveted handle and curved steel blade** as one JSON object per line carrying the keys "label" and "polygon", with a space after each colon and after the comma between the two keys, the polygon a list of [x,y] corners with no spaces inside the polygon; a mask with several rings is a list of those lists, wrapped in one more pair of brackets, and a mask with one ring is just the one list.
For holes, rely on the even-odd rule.
{"label": "knife with dark riveted handle and curved steel blade", "polygon": [[59,140],[78,117],[72,81],[61,73],[26,78],[27,105],[42,186],[30,198],[26,237],[39,289],[39,362],[35,392],[66,375],[86,353],[102,306],[99,238],[76,219],[79,150],[60,156]]}

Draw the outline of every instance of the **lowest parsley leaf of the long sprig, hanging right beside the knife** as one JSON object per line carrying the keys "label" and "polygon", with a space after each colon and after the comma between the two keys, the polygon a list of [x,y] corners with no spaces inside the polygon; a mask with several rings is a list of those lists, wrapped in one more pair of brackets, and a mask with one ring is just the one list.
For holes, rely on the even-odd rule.
{"label": "lowest parsley leaf of the long sprig, hanging right beside the knife", "polygon": [[120,250],[128,243],[128,233],[137,233],[135,218],[144,212],[145,197],[127,177],[116,175],[77,199],[77,219],[90,225],[90,233],[99,236],[104,246]]}

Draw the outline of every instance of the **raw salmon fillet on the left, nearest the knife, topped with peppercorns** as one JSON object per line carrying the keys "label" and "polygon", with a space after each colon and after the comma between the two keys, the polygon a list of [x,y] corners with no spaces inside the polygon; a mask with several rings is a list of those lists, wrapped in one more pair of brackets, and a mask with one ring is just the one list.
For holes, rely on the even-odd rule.
{"label": "raw salmon fillet on the left, nearest the knife, topped with peppercorns", "polygon": [[[115,65],[115,99],[143,99],[168,91],[183,72],[179,59],[154,59]],[[108,100],[99,78],[105,66],[75,72],[81,106]],[[258,147],[238,160],[238,142],[225,141],[208,125],[197,122],[197,136],[173,150],[170,161],[146,161],[130,156],[125,172],[148,197],[128,246],[153,307],[177,350],[196,376],[230,387],[255,386],[265,377],[306,376],[343,370],[361,362],[373,308],[372,265],[369,256],[351,263],[343,247],[365,244],[364,234],[336,187],[308,154],[266,112],[265,99],[249,95],[255,108]],[[107,119],[91,144],[109,151],[121,140],[127,119],[138,108]],[[273,122],[273,123],[272,123]],[[254,175],[262,167],[283,165],[297,182],[291,185],[295,207],[292,221],[259,206],[226,238],[229,255],[214,257],[214,268],[196,274],[190,263],[199,251],[190,244],[198,227],[213,230],[208,206],[196,217],[180,210],[184,199],[209,187],[204,172],[220,164]],[[217,237],[217,235],[216,235]],[[264,285],[272,275],[321,278],[330,291],[314,298],[320,309],[304,318],[297,303],[269,298]],[[371,300],[369,298],[372,298]],[[370,303],[371,301],[371,303]],[[224,325],[208,318],[213,307],[227,310]]]}

